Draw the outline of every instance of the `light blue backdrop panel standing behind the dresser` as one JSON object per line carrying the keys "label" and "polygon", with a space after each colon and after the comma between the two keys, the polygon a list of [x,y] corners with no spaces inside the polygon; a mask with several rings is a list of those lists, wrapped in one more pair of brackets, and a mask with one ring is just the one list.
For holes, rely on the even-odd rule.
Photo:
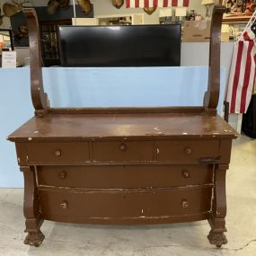
{"label": "light blue backdrop panel standing behind the dresser", "polygon": [[[207,67],[45,68],[51,107],[200,106]],[[0,187],[22,187],[14,144],[6,137],[33,115],[28,68],[0,69]],[[218,113],[225,92],[221,71]]]}

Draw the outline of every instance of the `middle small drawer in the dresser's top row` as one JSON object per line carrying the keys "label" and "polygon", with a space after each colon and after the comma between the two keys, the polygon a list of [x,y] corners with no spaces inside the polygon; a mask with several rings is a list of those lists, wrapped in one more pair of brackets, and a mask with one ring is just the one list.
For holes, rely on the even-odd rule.
{"label": "middle small drawer in the dresser's top row", "polygon": [[94,142],[93,160],[99,162],[152,161],[154,143],[138,142]]}

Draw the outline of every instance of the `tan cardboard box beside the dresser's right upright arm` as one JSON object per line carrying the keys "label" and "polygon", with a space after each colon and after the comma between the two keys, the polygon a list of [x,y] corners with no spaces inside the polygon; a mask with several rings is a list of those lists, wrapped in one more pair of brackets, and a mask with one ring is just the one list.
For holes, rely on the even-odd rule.
{"label": "tan cardboard box beside the dresser's right upright arm", "polygon": [[211,22],[186,21],[183,29],[183,42],[208,42]]}

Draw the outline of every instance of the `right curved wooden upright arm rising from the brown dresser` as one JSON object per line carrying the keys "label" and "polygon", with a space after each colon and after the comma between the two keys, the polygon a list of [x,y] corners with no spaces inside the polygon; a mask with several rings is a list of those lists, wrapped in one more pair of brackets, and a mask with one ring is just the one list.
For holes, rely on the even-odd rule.
{"label": "right curved wooden upright arm rising from the brown dresser", "polygon": [[214,7],[211,22],[208,88],[207,93],[205,94],[204,106],[206,112],[213,115],[216,115],[216,107],[219,98],[220,45],[223,13],[225,13],[225,6],[216,5]]}

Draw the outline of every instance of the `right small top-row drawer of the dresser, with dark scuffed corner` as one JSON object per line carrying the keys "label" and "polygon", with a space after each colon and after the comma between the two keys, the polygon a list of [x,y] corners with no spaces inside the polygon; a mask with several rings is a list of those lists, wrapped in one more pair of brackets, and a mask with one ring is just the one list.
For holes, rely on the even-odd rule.
{"label": "right small top-row drawer of the dresser, with dark scuffed corner", "polygon": [[155,150],[157,161],[199,163],[213,159],[214,162],[220,156],[218,140],[159,141]]}

